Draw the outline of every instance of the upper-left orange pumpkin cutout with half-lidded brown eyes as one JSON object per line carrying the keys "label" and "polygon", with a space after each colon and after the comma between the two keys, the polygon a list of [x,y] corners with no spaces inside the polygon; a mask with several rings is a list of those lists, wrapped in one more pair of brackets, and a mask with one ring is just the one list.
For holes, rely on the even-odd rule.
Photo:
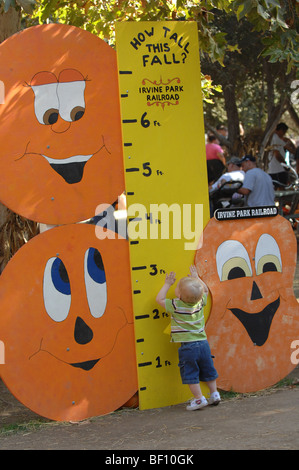
{"label": "upper-left orange pumpkin cutout with half-lidded brown eyes", "polygon": [[95,215],[124,190],[115,51],[66,25],[0,45],[0,200],[46,224]]}

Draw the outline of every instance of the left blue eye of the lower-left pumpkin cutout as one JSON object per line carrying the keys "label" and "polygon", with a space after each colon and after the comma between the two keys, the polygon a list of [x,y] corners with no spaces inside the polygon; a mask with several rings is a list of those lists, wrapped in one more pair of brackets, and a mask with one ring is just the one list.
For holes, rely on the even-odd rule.
{"label": "left blue eye of the lower-left pumpkin cutout", "polygon": [[56,322],[65,320],[71,306],[71,287],[67,270],[60,258],[53,257],[47,261],[43,295],[49,317]]}

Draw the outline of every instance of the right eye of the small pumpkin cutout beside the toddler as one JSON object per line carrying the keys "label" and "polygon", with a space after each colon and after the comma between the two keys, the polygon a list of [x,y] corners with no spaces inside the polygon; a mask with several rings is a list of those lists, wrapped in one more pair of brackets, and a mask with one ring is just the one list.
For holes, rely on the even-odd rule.
{"label": "right eye of the small pumpkin cutout beside the toddler", "polygon": [[260,275],[273,271],[282,272],[280,249],[276,240],[264,233],[260,236],[255,250],[255,272]]}

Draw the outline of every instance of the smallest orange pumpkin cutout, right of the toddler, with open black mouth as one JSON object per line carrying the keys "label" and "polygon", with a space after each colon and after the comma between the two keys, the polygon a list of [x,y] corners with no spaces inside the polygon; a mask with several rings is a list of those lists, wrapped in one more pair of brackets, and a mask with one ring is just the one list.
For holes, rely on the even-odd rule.
{"label": "smallest orange pumpkin cutout, right of the toddler, with open black mouth", "polygon": [[222,390],[261,390],[294,369],[296,254],[281,216],[207,224],[195,263],[212,295],[206,331]]}

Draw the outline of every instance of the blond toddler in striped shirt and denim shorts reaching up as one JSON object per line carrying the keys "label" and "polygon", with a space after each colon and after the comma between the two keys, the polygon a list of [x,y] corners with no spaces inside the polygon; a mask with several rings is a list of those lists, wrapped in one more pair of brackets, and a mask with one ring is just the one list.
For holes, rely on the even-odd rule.
{"label": "blond toddler in striped shirt and denim shorts reaching up", "polygon": [[[167,299],[169,288],[175,283],[175,273],[166,275],[165,283],[156,297],[159,305],[171,314],[171,341],[180,342],[179,367],[183,384],[188,384],[194,399],[187,410],[218,405],[217,371],[205,333],[203,307],[207,303],[208,288],[198,277],[195,266],[190,275],[179,280],[175,299]],[[203,396],[200,383],[206,382],[210,390],[209,401]]]}

